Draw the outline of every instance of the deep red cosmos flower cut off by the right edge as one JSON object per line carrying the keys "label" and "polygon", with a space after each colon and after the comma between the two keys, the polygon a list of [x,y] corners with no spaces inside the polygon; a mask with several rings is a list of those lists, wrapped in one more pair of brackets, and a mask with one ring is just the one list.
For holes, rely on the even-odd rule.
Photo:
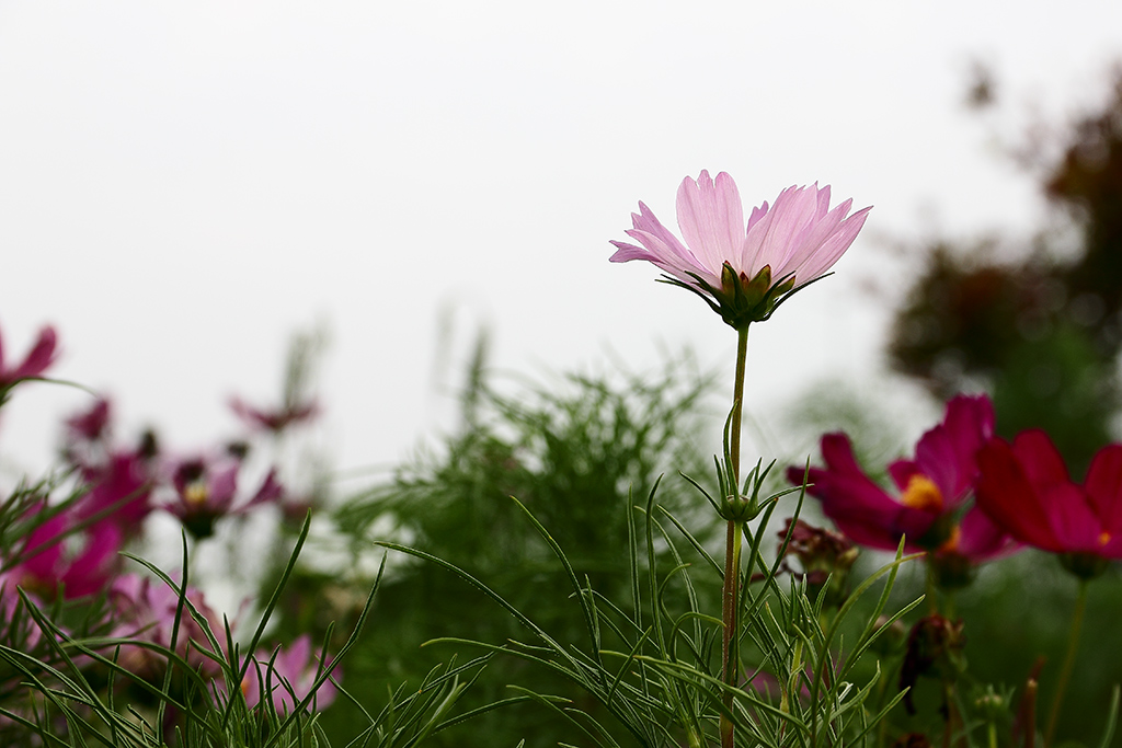
{"label": "deep red cosmos flower cut off by the right edge", "polygon": [[1083,579],[1122,558],[1122,444],[1095,454],[1082,486],[1039,430],[1012,444],[991,440],[978,468],[978,506],[1017,539],[1063,554],[1064,566]]}

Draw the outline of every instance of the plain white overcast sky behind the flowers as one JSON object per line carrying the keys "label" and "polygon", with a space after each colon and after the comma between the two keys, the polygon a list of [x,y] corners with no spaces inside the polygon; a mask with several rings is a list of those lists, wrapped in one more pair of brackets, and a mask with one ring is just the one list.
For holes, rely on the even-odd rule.
{"label": "plain white overcast sky behind the flowers", "polygon": [[[635,368],[733,332],[655,268],[607,261],[640,200],[727,170],[875,205],[837,275],[753,331],[748,404],[877,370],[902,283],[877,237],[1039,222],[995,156],[1033,108],[1105,90],[1122,4],[1055,2],[7,2],[0,0],[0,327],[54,323],[55,376],[114,396],[122,433],[195,449],[230,394],[276,397],[289,333],[325,321],[327,443],[392,463],[453,412],[441,307],[543,371]],[[1004,119],[965,112],[973,58]],[[74,390],[6,407],[0,461],[43,464]]]}

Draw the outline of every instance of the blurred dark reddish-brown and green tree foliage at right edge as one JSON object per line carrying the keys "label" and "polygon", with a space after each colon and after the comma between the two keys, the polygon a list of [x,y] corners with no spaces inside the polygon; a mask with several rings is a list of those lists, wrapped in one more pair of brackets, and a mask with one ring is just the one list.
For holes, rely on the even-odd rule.
{"label": "blurred dark reddish-brown and green tree foliage at right edge", "polygon": [[936,243],[896,312],[889,355],[939,398],[990,389],[999,433],[1045,428],[1078,472],[1110,441],[1119,407],[1122,73],[1103,110],[1070,128],[1058,160],[1037,168],[1043,194],[1076,224],[1077,251],[1048,234],[1019,261],[999,261],[984,242]]}

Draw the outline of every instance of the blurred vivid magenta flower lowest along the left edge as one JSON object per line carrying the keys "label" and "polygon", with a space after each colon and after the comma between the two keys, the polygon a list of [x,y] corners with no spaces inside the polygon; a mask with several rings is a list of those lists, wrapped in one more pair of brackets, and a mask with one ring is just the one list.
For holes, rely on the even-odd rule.
{"label": "blurred vivid magenta flower lowest along the left edge", "polygon": [[80,521],[71,508],[33,529],[9,578],[46,600],[59,592],[71,599],[108,589],[120,567],[123,534],[111,521],[75,529]]}

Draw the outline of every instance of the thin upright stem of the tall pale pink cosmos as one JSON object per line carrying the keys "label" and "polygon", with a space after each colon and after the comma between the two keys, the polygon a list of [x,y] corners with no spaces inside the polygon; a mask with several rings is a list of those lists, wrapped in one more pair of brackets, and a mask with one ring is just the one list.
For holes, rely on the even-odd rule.
{"label": "thin upright stem of the tall pale pink cosmos", "polygon": [[[744,367],[748,358],[748,327],[737,330],[736,343],[736,378],[733,385],[733,418],[729,426],[728,437],[729,462],[732,467],[733,491],[739,498],[741,492],[741,412],[744,403]],[[724,667],[721,680],[730,685],[739,685],[739,640],[741,631],[736,616],[736,607],[741,597],[741,538],[743,523],[735,519],[728,520],[728,534],[725,538],[725,585],[721,592],[721,621],[725,624],[724,641],[721,654],[724,655]],[[726,693],[724,696],[725,707],[733,711],[733,694]],[[736,746],[736,733],[733,721],[725,717],[720,718],[720,746],[721,748],[734,748]]]}

